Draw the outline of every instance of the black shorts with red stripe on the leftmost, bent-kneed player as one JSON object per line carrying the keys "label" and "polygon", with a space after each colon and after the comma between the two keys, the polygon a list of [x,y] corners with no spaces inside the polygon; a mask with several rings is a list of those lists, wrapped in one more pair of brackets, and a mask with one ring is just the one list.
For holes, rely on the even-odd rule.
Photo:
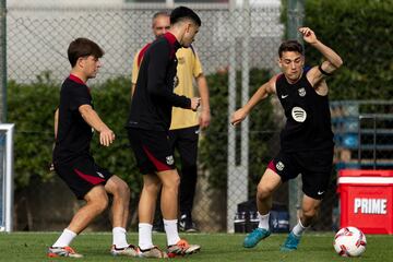
{"label": "black shorts with red stripe on the leftmost, bent-kneed player", "polygon": [[93,157],[84,156],[69,163],[53,164],[56,172],[78,199],[83,199],[97,184],[105,184],[112,176],[97,166]]}

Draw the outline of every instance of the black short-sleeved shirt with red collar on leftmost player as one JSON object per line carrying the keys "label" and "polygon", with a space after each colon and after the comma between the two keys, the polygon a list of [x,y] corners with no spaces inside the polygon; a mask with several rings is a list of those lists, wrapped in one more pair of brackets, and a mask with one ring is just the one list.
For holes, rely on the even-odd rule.
{"label": "black short-sleeved shirt with red collar on leftmost player", "polygon": [[82,118],[79,107],[92,105],[88,87],[75,75],[70,75],[60,91],[59,123],[53,163],[64,163],[90,154],[92,128]]}

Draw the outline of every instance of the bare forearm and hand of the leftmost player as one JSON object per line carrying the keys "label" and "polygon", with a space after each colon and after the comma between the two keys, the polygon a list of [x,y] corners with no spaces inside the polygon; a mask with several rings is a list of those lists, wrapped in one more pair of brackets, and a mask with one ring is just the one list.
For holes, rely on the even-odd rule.
{"label": "bare forearm and hand of the leftmost player", "polygon": [[92,106],[82,105],[79,107],[79,111],[86,123],[99,132],[99,143],[109,146],[115,140],[115,133],[103,122]]}

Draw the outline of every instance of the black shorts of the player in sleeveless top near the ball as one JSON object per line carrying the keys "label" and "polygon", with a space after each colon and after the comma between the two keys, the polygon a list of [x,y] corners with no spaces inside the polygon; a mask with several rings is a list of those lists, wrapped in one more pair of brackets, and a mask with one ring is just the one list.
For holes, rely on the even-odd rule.
{"label": "black shorts of the player in sleeveless top near the ball", "polygon": [[330,183],[333,148],[296,153],[279,152],[267,168],[278,174],[283,182],[301,174],[303,193],[312,199],[321,200]]}

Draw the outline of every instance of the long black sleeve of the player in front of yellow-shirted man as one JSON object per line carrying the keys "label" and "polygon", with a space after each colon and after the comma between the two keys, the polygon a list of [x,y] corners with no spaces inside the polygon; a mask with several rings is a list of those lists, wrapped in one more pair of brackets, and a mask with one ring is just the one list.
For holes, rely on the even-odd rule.
{"label": "long black sleeve of the player in front of yellow-shirted man", "polygon": [[151,57],[147,68],[147,91],[153,96],[168,102],[175,107],[190,108],[191,99],[174,93],[171,87],[166,86],[167,66],[169,64],[170,50],[166,45],[156,45],[151,48]]}

